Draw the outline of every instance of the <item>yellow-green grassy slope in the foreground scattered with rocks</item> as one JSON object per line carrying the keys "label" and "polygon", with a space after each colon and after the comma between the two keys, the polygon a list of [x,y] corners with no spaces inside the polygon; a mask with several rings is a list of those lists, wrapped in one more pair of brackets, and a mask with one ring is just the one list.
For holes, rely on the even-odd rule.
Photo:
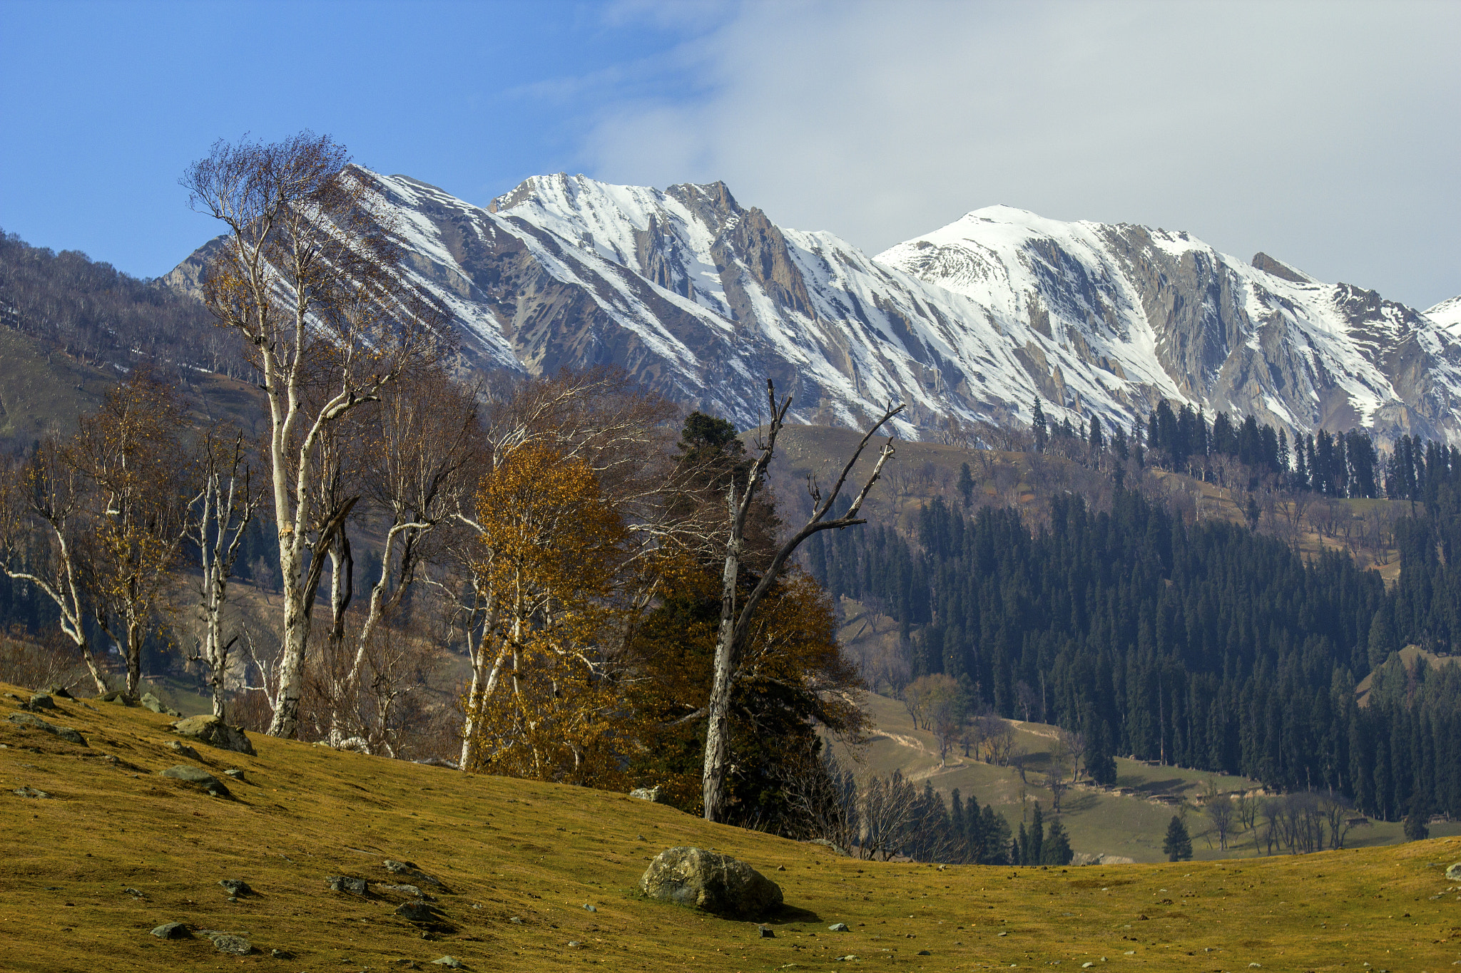
{"label": "yellow-green grassy slope in the foreground scattered with rocks", "polygon": [[[435,969],[441,955],[473,970],[846,969],[834,963],[849,955],[928,970],[1438,970],[1461,960],[1461,890],[1442,874],[1461,859],[1454,837],[1071,869],[858,862],[617,794],[267,738],[254,740],[257,757],[199,745],[194,763],[244,772],[229,780],[237,801],[210,798],[158,776],[181,761],[167,718],[60,705],[48,718],[88,747],[0,721],[6,970]],[[0,710],[13,708],[0,697]],[[789,909],[773,920],[776,938],[636,897],[647,858],[691,843],[782,884]],[[402,896],[324,885],[329,874],[390,881],[386,858],[446,884],[437,904],[450,928],[424,938],[392,915]],[[257,894],[229,902],[221,878]],[[207,939],[148,934],[169,920],[247,935],[259,951],[232,957]],[[833,922],[852,931],[833,934]]]}

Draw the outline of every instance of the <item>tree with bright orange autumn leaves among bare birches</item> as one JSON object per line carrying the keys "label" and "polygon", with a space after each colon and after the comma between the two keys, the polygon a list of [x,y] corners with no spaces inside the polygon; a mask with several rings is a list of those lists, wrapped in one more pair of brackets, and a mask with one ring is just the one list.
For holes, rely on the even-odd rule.
{"label": "tree with bright orange autumn leaves among bare birches", "polygon": [[468,700],[472,769],[603,786],[622,710],[605,635],[621,614],[628,531],[589,464],[541,442],[484,477],[476,513],[495,661]]}

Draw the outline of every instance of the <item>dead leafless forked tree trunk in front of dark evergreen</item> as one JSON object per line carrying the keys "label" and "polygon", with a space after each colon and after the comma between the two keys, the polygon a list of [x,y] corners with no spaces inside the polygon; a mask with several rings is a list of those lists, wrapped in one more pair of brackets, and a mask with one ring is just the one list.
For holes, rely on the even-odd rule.
{"label": "dead leafless forked tree trunk in front of dark evergreen", "polygon": [[878,461],[872,467],[872,473],[863,483],[862,490],[853,499],[852,506],[842,516],[831,518],[833,503],[837,502],[837,496],[842,493],[847,477],[852,474],[853,464],[862,455],[866,448],[868,441],[896,414],[903,411],[903,406],[890,406],[882,416],[872,423],[872,427],[862,436],[858,448],[853,451],[847,464],[843,467],[842,474],[833,484],[831,490],[823,496],[821,490],[815,483],[809,483],[808,489],[812,495],[814,512],[811,519],[796,531],[785,544],[782,544],[776,554],[771,557],[771,563],[766,573],[757,582],[751,594],[747,595],[745,601],[736,607],[736,595],[741,584],[741,557],[745,544],[745,528],[747,518],[751,512],[751,506],[755,499],[755,492],[766,478],[766,468],[771,464],[771,458],[776,455],[776,439],[780,435],[785,420],[786,410],[790,408],[792,398],[787,395],[782,400],[782,404],[776,403],[776,387],[770,379],[766,382],[767,401],[770,404],[770,425],[766,430],[766,438],[760,443],[761,455],[757,457],[755,462],[751,465],[751,471],[747,478],[745,493],[736,497],[736,484],[732,480],[730,487],[726,495],[726,506],[729,511],[729,531],[726,537],[725,547],[725,572],[722,575],[722,594],[720,594],[720,626],[716,636],[716,655],[713,662],[713,675],[710,684],[710,703],[709,703],[709,725],[706,728],[706,754],[704,754],[704,772],[701,775],[701,791],[704,799],[704,814],[707,821],[714,821],[720,817],[722,804],[725,801],[725,776],[726,767],[730,760],[730,690],[735,674],[736,652],[741,645],[745,643],[747,635],[751,629],[751,621],[755,614],[757,605],[770,591],[771,585],[776,582],[777,575],[782,572],[782,566],[786,559],[805,541],[808,537],[817,531],[852,527],[855,524],[865,524],[865,519],[858,516],[862,509],[862,503],[868,499],[868,492],[882,476],[884,464],[893,457],[893,436],[888,436],[888,442],[882,446],[878,454]]}

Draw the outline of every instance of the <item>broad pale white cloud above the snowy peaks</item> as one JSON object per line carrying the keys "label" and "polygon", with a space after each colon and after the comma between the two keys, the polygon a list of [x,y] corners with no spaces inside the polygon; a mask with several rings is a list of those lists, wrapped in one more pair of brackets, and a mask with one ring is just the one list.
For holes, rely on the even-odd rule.
{"label": "broad pale white cloud above the snowy peaks", "polygon": [[603,109],[600,178],[722,178],[869,252],[1007,203],[1188,229],[1422,306],[1461,292],[1461,4],[707,10],[672,55],[704,93]]}

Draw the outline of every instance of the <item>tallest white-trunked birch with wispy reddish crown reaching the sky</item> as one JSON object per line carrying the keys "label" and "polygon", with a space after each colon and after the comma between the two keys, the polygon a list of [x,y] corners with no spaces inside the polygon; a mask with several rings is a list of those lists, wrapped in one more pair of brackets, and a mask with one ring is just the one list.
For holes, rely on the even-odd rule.
{"label": "tallest white-trunked birch with wispy reddish crown reaching the sky", "polygon": [[[326,430],[440,350],[438,309],[402,286],[378,198],[345,149],[301,133],[218,142],[183,177],[193,209],[221,220],[203,296],[237,330],[269,403],[267,468],[283,584],[279,697],[269,732],[292,737],[326,551],[349,506],[317,511]],[[310,566],[305,567],[307,560]]]}

